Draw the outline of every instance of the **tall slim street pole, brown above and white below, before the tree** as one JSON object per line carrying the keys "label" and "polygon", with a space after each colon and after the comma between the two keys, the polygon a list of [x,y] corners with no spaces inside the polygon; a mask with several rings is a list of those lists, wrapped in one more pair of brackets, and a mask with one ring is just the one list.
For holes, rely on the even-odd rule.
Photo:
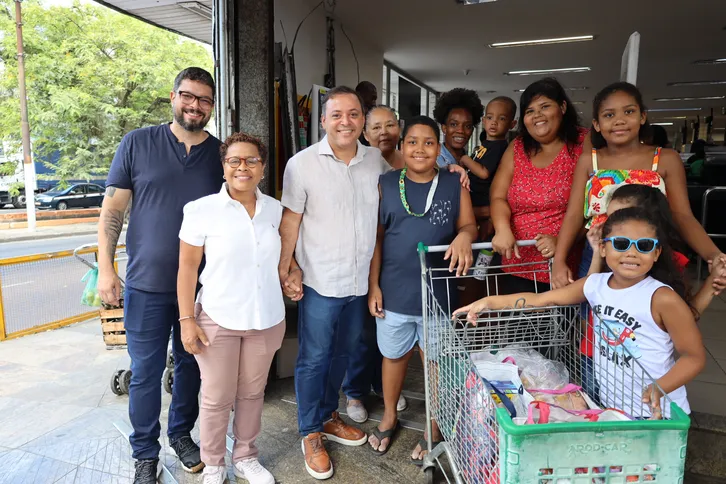
{"label": "tall slim street pole, brown above and white below, before the tree", "polygon": [[23,52],[23,20],[21,0],[15,0],[15,32],[18,42],[18,89],[20,91],[20,127],[23,136],[23,173],[25,175],[25,208],[28,230],[35,231],[35,194],[33,189],[33,159],[30,155],[30,124],[28,124],[28,97],[25,90],[25,53]]}

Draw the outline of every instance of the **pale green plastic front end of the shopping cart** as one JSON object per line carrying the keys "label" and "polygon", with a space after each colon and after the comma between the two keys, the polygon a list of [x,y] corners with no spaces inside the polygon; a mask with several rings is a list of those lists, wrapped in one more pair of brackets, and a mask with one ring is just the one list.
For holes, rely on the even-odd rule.
{"label": "pale green plastic front end of the shopping cart", "polygon": [[502,484],[682,484],[691,420],[517,425],[497,409]]}

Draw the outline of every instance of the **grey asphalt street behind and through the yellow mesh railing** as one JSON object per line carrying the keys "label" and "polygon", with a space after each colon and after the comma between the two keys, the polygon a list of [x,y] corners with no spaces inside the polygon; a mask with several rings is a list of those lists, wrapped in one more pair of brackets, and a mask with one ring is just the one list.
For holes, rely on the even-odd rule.
{"label": "grey asphalt street behind and through the yellow mesh railing", "polygon": [[[126,239],[121,234],[120,242]],[[2,258],[72,250],[84,244],[96,243],[96,235],[80,235],[57,239],[8,242],[0,245]],[[94,254],[84,256],[89,262]],[[125,275],[125,262],[119,263],[119,273]],[[34,262],[0,266],[2,304],[8,333],[28,329],[93,311],[81,304],[89,268],[75,257],[42,259]]]}

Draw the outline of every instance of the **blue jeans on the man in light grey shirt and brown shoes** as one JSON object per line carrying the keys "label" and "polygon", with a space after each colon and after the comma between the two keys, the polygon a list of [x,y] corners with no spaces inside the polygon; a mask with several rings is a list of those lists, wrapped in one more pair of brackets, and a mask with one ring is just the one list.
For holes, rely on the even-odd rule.
{"label": "blue jeans on the man in light grey shirt and brown shoes", "polygon": [[323,431],[338,409],[349,355],[358,351],[368,298],[327,297],[305,286],[298,303],[295,395],[300,435]]}

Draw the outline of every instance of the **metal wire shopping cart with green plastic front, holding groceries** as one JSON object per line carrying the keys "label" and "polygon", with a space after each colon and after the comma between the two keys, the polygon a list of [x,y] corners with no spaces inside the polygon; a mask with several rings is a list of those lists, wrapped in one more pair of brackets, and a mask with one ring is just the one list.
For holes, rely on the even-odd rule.
{"label": "metal wire shopping cart with green plastic front, holding groceries", "polygon": [[[519,245],[533,245],[533,241]],[[490,249],[491,244],[473,248]],[[682,483],[690,420],[667,397],[663,420],[523,425],[498,408],[493,388],[472,359],[477,352],[535,349],[564,363],[572,383],[583,387],[593,401],[606,402],[630,415],[649,415],[643,409],[642,389],[654,383],[627,346],[619,357],[588,363],[580,352],[583,339],[592,343],[581,323],[579,306],[515,307],[480,315],[477,325],[454,320],[450,292],[435,295],[437,281],[452,279],[448,269],[428,267],[427,253],[446,246],[419,245],[424,314],[426,430],[429,453],[424,458],[426,481],[434,467],[447,482],[457,484],[593,484]],[[473,277],[473,268],[465,277]],[[502,267],[486,269],[487,295],[498,294]],[[548,264],[508,266],[509,274],[528,274],[543,280]],[[451,287],[453,284],[446,284]],[[484,294],[482,294],[483,296]],[[446,299],[443,300],[442,299]],[[518,304],[519,306],[519,304]],[[618,338],[618,327],[597,321],[597,331]],[[592,366],[590,366],[592,365]],[[594,377],[597,385],[587,384]],[[645,411],[643,411],[645,410]],[[431,420],[436,419],[445,442],[432,448]],[[446,462],[442,459],[446,455]],[[442,465],[443,464],[443,465]]]}

